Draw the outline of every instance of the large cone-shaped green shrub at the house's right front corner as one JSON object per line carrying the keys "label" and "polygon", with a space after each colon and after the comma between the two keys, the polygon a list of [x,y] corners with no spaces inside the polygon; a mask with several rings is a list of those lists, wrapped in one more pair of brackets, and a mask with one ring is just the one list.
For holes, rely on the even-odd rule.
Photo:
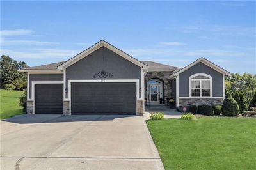
{"label": "large cone-shaped green shrub at the house's right front corner", "polygon": [[237,116],[239,114],[239,106],[230,93],[226,93],[221,111],[225,116]]}

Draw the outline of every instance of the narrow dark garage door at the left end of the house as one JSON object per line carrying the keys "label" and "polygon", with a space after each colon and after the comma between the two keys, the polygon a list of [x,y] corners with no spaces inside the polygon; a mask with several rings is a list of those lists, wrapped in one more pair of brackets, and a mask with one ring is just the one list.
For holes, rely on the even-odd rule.
{"label": "narrow dark garage door at the left end of the house", "polygon": [[35,84],[35,113],[63,114],[63,84]]}

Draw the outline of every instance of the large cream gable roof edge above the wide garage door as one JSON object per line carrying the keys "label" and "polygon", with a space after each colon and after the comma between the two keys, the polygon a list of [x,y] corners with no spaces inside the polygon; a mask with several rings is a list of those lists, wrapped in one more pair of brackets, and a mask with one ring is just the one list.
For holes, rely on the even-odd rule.
{"label": "large cream gable roof edge above the wide garage door", "polygon": [[135,65],[140,66],[141,68],[145,68],[145,69],[148,68],[147,65],[145,65],[144,63],[141,63],[141,61],[138,61],[138,59],[132,58],[132,56],[130,56],[129,54],[125,53],[124,51],[116,48],[115,46],[111,45],[110,43],[105,42],[104,40],[100,40],[99,42],[95,43],[94,45],[92,45],[88,49],[80,52],[79,54],[77,54],[73,58],[70,58],[70,59],[68,59],[68,61],[65,61],[64,63],[59,65],[57,67],[58,70],[63,70],[63,67],[68,67],[68,66],[76,63],[77,61],[79,61],[80,59],[83,59],[84,57],[88,56],[89,54],[91,54],[95,50],[99,49],[100,47],[106,47],[109,50],[112,50],[116,54],[122,56],[123,58],[127,59],[128,61],[131,61]]}

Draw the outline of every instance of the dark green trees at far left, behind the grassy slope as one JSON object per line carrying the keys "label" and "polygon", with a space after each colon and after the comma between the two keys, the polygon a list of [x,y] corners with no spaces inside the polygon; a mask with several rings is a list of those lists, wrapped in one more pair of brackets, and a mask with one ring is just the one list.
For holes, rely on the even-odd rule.
{"label": "dark green trees at far left, behind the grassy slope", "polygon": [[13,60],[9,56],[2,55],[0,60],[0,87],[4,88],[5,84],[12,84],[15,79],[26,80],[26,73],[21,73],[18,70],[26,68],[28,65],[24,61]]}

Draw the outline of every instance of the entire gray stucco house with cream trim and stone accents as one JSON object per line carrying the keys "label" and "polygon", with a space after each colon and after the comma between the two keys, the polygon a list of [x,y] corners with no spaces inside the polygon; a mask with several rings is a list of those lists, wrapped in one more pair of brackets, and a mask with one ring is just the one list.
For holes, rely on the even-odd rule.
{"label": "entire gray stucco house with cream trim and stone accents", "polygon": [[217,105],[229,72],[205,58],[184,68],[138,61],[101,40],[68,61],[28,73],[28,114],[143,114],[150,104]]}

